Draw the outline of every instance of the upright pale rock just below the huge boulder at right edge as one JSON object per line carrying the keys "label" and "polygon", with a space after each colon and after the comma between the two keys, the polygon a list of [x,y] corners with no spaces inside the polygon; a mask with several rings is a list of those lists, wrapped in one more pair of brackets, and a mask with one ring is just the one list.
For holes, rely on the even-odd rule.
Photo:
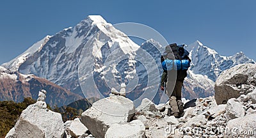
{"label": "upright pale rock just below the huge boulder at right edge", "polygon": [[236,98],[231,98],[227,102],[226,113],[225,116],[227,121],[234,118],[239,118],[244,116],[243,105],[236,100]]}

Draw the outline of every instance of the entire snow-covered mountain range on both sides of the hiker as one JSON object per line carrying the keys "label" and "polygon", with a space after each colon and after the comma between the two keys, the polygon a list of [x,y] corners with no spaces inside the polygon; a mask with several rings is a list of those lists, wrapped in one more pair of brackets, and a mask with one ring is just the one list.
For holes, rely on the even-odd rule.
{"label": "entire snow-covered mountain range on both sides of the hiker", "polygon": [[[73,93],[85,94],[86,98],[102,98],[111,88],[119,90],[125,82],[127,96],[132,100],[142,100],[145,97],[141,95],[146,93],[148,98],[156,95],[157,103],[163,94],[159,90],[162,48],[152,39],[138,46],[102,17],[92,15],[75,27],[46,36],[3,66],[43,77]],[[198,41],[186,49],[193,61],[184,82],[186,98],[213,95],[214,81],[223,70],[254,63],[242,52],[220,56]]]}

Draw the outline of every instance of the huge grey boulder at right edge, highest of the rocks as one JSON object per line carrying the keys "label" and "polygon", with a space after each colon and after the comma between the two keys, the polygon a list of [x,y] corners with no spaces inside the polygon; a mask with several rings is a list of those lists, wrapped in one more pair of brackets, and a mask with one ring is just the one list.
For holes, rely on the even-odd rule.
{"label": "huge grey boulder at right edge, highest of the rocks", "polygon": [[226,104],[230,98],[246,95],[256,86],[256,64],[242,64],[225,70],[214,87],[217,104]]}

